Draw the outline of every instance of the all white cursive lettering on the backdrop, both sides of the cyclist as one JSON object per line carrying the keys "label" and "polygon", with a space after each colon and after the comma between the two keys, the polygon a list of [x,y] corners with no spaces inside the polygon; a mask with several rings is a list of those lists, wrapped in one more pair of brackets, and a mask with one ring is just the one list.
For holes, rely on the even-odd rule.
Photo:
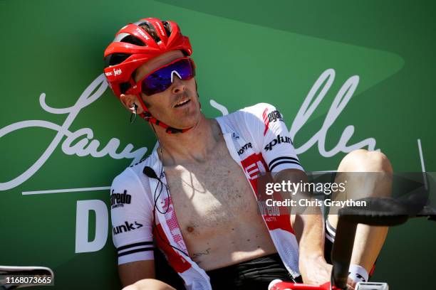
{"label": "all white cursive lettering on the backdrop, both sides of the cyclist", "polygon": [[[335,71],[331,68],[323,72],[321,76],[318,77],[318,80],[316,80],[315,84],[308,92],[306,99],[301,105],[301,108],[299,109],[299,112],[297,113],[294,122],[292,123],[290,130],[292,139],[294,139],[294,136],[296,136],[297,132],[301,129],[301,127],[306,124],[308,118],[311,117],[311,114],[313,114],[316,107],[318,107],[318,104],[321,102],[321,100],[323,100],[323,97],[325,97],[328,90],[330,90],[334,78]],[[324,83],[325,85],[321,88],[321,85],[323,85]],[[296,148],[297,154],[304,153],[316,143],[318,143],[319,153],[321,154],[321,156],[324,157],[334,156],[341,151],[344,153],[348,153],[350,151],[353,151],[354,149],[360,149],[365,146],[368,146],[368,150],[375,149],[374,138],[368,138],[356,144],[347,146],[347,142],[351,139],[351,136],[354,133],[354,126],[352,125],[348,125],[343,130],[341,139],[338,141],[338,144],[333,149],[331,149],[330,151],[326,151],[325,148],[328,129],[333,125],[339,114],[341,114],[343,109],[346,107],[346,104],[348,104],[348,102],[350,101],[356,87],[358,86],[358,83],[358,75],[353,75],[352,77],[348,78],[348,80],[346,80],[346,82],[341,87],[341,90],[339,90],[338,94],[333,100],[331,107],[326,115],[326,119],[323,122],[323,126],[305,144],[303,144],[299,148]],[[132,163],[140,161],[142,156],[144,156],[147,152],[147,147],[141,147],[133,151],[133,145],[128,144],[127,146],[125,146],[123,151],[117,153],[116,151],[120,146],[120,140],[112,138],[110,139],[108,144],[106,144],[104,148],[100,149],[99,151],[98,148],[100,147],[100,141],[93,139],[92,129],[81,128],[74,132],[69,130],[71,124],[73,123],[74,119],[76,119],[81,109],[98,100],[98,98],[103,95],[103,92],[105,92],[107,88],[108,83],[106,82],[105,77],[102,74],[98,76],[93,82],[91,82],[91,84],[83,91],[81,97],[78,98],[76,104],[66,108],[49,107],[48,104],[46,104],[46,94],[42,93],[39,97],[39,103],[46,112],[49,112],[51,114],[68,114],[68,117],[66,118],[65,122],[63,122],[62,126],[54,124],[53,122],[43,120],[27,120],[22,122],[16,122],[0,129],[0,138],[13,131],[30,127],[41,127],[57,131],[57,134],[51,141],[51,144],[48,145],[46,151],[43,152],[39,159],[35,163],[33,163],[31,167],[24,171],[24,173],[21,173],[20,176],[17,176],[11,181],[0,183],[0,190],[9,190],[11,188],[15,188],[16,186],[19,186],[21,185],[21,183],[24,183],[26,180],[28,180],[28,178],[31,178],[31,176],[33,176],[33,174],[35,174],[36,171],[38,171],[44,163],[46,163],[48,158],[50,158],[51,154],[53,154],[53,151],[61,143],[64,136],[66,136],[66,139],[63,140],[61,149],[63,153],[68,155],[90,155],[96,158],[109,155],[113,159],[133,159]],[[321,92],[319,92],[318,96],[312,102],[313,98],[316,95],[316,92],[318,92],[320,88]],[[222,114],[228,114],[227,108],[224,107],[222,104],[218,104],[214,100],[210,100],[210,104],[212,105],[212,107],[222,112]]]}

